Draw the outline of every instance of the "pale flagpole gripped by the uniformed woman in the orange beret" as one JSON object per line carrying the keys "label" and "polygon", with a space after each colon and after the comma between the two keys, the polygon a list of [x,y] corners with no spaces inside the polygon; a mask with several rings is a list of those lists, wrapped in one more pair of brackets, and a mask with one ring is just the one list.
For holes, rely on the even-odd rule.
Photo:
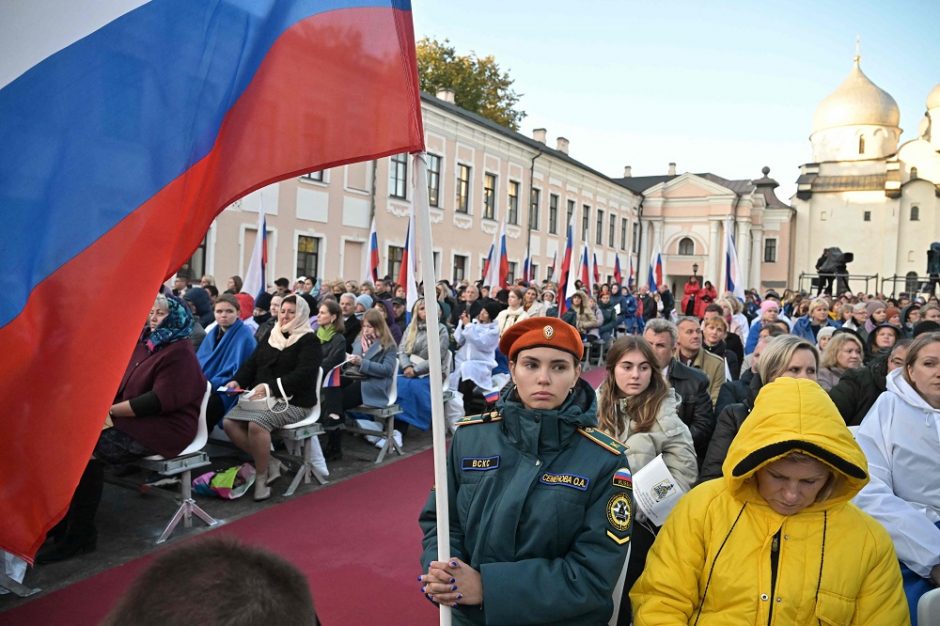
{"label": "pale flagpole gripped by the uniformed woman in the orange beret", "polygon": [[[421,280],[424,282],[424,308],[428,319],[439,319],[437,279],[434,277],[434,253],[431,245],[431,209],[428,202],[428,166],[424,155],[414,155],[414,209],[418,241],[421,246]],[[441,369],[441,338],[428,332],[428,365],[431,383],[431,435],[434,443],[434,497],[437,508],[437,560],[447,561],[450,553],[450,506],[447,497],[447,422],[444,419],[444,373]],[[450,607],[440,605],[441,626],[450,626]]]}

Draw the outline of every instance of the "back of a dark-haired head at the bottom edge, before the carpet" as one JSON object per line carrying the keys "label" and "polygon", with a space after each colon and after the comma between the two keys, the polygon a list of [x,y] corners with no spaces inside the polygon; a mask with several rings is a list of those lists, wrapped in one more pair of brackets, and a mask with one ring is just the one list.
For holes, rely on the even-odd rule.
{"label": "back of a dark-haired head at the bottom edge, before the carpet", "polygon": [[307,578],[294,565],[227,537],[162,554],[102,626],[316,626]]}

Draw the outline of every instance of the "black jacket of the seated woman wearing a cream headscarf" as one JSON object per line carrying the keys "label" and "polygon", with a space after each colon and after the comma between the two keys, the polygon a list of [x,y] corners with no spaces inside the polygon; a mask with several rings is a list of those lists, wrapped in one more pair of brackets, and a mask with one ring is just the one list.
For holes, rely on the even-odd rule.
{"label": "black jacket of the seated woman wearing a cream headscarf", "polygon": [[317,368],[323,361],[320,340],[316,333],[307,333],[294,345],[284,350],[259,344],[251,356],[235,372],[235,380],[242,389],[267,383],[271,395],[280,397],[277,379],[281,379],[284,392],[292,396],[291,405],[310,408],[317,403]]}

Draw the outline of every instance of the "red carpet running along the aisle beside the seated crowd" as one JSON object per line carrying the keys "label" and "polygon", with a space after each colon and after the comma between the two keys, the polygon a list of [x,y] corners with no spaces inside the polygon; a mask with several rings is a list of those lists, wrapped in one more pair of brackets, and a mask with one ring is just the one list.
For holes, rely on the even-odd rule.
{"label": "red carpet running along the aisle beside the seated crowd", "polygon": [[[422,452],[211,532],[263,546],[299,567],[326,626],[436,624],[438,611],[417,581],[418,513],[434,482],[433,463],[431,451]],[[152,558],[0,613],[0,624],[98,624]]]}

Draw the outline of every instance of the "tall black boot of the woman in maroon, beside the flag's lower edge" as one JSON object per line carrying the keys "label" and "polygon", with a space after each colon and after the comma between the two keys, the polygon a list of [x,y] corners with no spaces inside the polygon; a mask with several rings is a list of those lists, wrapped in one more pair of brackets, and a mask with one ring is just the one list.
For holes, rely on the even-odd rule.
{"label": "tall black boot of the woman in maroon, beside the flag's lower edge", "polygon": [[101,503],[104,488],[104,465],[92,459],[85,467],[78,482],[69,512],[65,517],[65,533],[61,534],[61,525],[56,527],[59,537],[36,555],[36,563],[55,563],[79,554],[92,552],[98,546],[98,531],[95,529],[95,514]]}

